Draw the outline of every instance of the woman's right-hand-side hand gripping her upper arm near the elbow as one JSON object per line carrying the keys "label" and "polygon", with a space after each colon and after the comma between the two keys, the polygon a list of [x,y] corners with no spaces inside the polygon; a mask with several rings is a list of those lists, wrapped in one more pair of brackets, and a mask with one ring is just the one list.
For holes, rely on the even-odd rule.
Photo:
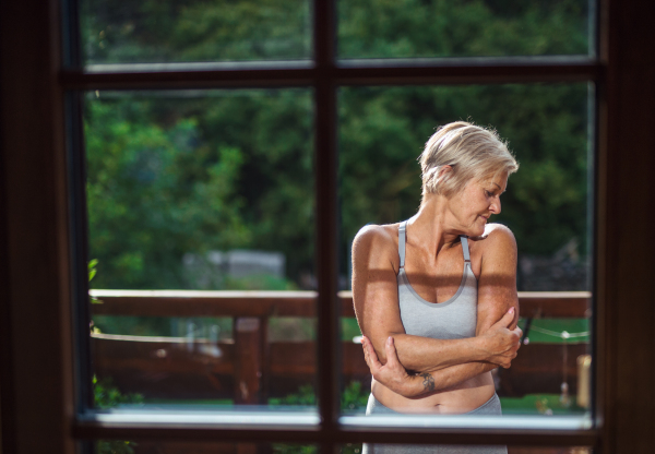
{"label": "woman's right-hand-side hand gripping her upper arm near the elbow", "polygon": [[510,330],[508,326],[514,320],[514,308],[510,310],[480,335],[483,340],[483,356],[485,361],[492,362],[502,368],[509,368],[516,350],[521,347],[523,331],[520,327]]}

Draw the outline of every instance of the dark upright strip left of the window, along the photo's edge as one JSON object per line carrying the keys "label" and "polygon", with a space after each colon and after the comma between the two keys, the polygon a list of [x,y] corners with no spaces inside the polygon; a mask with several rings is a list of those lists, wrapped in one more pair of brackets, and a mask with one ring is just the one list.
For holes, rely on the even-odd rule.
{"label": "dark upright strip left of the window, along the photo's edge", "polygon": [[60,4],[0,8],[4,451],[72,452]]}

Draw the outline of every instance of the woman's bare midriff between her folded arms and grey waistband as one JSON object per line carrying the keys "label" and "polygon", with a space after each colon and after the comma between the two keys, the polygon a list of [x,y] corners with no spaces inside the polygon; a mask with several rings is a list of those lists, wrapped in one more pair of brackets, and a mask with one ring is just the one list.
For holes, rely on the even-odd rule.
{"label": "woman's bare midriff between her folded arms and grey waistband", "polygon": [[496,393],[496,389],[491,372],[485,372],[448,390],[434,391],[425,397],[404,397],[376,379],[372,380],[371,392],[382,405],[394,411],[457,415],[472,411],[487,403]]}

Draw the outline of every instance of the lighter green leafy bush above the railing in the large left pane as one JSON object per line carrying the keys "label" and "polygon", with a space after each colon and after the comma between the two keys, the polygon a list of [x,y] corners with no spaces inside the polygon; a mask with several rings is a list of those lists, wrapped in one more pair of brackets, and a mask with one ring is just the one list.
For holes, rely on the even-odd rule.
{"label": "lighter green leafy bush above the railing in the large left pane", "polygon": [[184,288],[184,252],[238,247],[249,236],[234,194],[240,152],[216,150],[202,178],[193,178],[186,155],[194,121],[165,129],[150,120],[146,104],[88,104],[88,218],[100,288]]}

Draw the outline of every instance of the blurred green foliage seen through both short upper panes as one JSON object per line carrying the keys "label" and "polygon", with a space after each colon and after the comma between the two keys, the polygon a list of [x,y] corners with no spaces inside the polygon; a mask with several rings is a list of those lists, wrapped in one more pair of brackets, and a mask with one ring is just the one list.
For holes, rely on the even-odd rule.
{"label": "blurred green foliage seen through both short upper panes", "polygon": [[[307,59],[307,0],[85,0],[90,63]],[[585,0],[340,1],[344,58],[586,55]]]}

